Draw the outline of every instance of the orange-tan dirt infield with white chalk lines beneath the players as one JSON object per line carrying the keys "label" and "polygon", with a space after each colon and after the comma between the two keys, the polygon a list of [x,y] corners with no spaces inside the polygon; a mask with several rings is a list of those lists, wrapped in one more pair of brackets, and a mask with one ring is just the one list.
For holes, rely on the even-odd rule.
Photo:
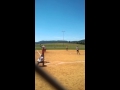
{"label": "orange-tan dirt infield with white chalk lines beneath the players", "polygon": [[[41,50],[35,50],[35,62]],[[45,53],[46,67],[43,68],[67,90],[85,90],[85,50],[47,50]],[[39,64],[42,66],[42,63]],[[35,90],[56,90],[35,72]]]}

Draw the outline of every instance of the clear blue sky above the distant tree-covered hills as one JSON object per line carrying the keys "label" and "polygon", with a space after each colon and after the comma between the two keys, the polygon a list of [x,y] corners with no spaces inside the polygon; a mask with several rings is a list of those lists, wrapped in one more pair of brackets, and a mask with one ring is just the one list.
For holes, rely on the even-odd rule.
{"label": "clear blue sky above the distant tree-covered hills", "polygon": [[35,0],[35,42],[85,39],[85,0]]}

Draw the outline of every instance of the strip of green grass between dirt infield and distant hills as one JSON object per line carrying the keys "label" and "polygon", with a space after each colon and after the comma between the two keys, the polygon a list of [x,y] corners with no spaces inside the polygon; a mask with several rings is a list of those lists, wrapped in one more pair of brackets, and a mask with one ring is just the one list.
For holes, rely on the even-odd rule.
{"label": "strip of green grass between dirt infield and distant hills", "polygon": [[[82,44],[71,44],[71,43],[47,43],[42,44],[45,45],[47,50],[65,50],[66,46],[68,46],[68,50],[75,50],[76,46],[79,47],[80,50],[85,50],[85,45]],[[40,44],[35,44],[35,50],[41,50]]]}

